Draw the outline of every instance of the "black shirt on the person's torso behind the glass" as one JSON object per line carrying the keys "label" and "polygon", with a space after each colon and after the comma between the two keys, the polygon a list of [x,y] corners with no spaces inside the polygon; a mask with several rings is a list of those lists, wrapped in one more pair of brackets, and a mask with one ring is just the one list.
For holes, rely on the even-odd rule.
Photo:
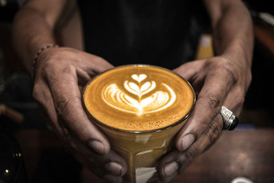
{"label": "black shirt on the person's torso behind the glass", "polygon": [[114,66],[152,64],[168,69],[195,58],[207,25],[197,0],[78,0],[85,49]]}

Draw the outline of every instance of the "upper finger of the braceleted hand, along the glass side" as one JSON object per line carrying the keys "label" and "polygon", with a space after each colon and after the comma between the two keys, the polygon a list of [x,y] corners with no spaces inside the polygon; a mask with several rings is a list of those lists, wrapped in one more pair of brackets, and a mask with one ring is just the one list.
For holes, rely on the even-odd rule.
{"label": "upper finger of the braceleted hand, along the glass side", "polygon": [[91,123],[82,108],[76,69],[73,66],[56,68],[47,75],[58,120],[66,125],[73,136],[99,154],[108,154],[108,139]]}

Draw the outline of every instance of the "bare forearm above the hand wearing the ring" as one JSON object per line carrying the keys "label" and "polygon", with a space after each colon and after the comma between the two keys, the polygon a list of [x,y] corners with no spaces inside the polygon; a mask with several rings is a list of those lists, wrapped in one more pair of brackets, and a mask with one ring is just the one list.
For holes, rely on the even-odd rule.
{"label": "bare forearm above the hand wearing the ring", "polygon": [[215,10],[211,17],[214,54],[250,68],[253,28],[247,8],[241,1],[234,1],[229,2],[229,5],[221,5],[220,10]]}

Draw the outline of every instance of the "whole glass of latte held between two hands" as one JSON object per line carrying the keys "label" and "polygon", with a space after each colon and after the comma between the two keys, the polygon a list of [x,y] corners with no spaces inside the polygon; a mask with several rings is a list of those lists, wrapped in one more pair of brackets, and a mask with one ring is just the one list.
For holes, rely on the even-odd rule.
{"label": "whole glass of latte held between two hands", "polygon": [[188,82],[158,66],[120,66],[92,79],[83,93],[91,121],[127,162],[123,182],[158,180],[160,158],[195,105]]}

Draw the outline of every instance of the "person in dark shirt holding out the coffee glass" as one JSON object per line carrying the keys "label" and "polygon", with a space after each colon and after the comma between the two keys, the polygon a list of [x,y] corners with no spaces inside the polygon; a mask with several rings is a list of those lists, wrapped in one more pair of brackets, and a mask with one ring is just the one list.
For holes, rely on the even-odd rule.
{"label": "person in dark shirt holding out the coffee glass", "polygon": [[[33,96],[51,127],[101,178],[122,182],[127,164],[82,108],[81,90],[98,73],[121,64],[155,64],[173,69],[194,86],[195,108],[177,134],[176,148],[158,166],[164,182],[219,138],[222,106],[240,114],[251,83],[253,51],[251,17],[242,1],[79,0],[86,51],[55,46],[54,28],[65,5],[65,0],[27,1],[14,19],[14,47],[34,77]],[[203,10],[209,21],[193,21]],[[195,45],[193,34],[199,33],[193,25],[203,23],[209,23],[214,56],[190,61],[189,43]]]}

